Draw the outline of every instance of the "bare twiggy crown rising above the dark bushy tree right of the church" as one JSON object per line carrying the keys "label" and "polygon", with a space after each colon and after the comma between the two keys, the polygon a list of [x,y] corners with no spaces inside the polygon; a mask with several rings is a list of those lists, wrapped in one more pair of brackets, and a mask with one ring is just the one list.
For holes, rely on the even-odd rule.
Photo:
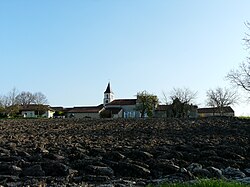
{"label": "bare twiggy crown rising above the dark bushy tree right of the church", "polygon": [[197,97],[197,92],[193,92],[188,88],[173,88],[170,92],[170,99],[172,101],[178,99],[181,103],[191,104]]}

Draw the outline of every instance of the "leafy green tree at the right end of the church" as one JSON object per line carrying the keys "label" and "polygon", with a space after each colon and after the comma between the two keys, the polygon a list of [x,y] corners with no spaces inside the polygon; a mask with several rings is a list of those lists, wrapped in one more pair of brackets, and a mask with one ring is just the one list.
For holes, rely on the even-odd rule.
{"label": "leafy green tree at the right end of the church", "polygon": [[148,117],[152,117],[158,103],[159,100],[156,95],[150,94],[147,91],[137,93],[136,110],[141,113],[141,118],[144,118],[146,114]]}

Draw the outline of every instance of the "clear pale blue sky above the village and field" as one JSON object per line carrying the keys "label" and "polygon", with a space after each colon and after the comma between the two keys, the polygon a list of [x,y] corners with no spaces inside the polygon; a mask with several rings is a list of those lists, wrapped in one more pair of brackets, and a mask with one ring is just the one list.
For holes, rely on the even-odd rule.
{"label": "clear pale blue sky above the village and field", "polygon": [[[250,54],[249,0],[2,0],[0,95],[42,92],[51,106],[189,88],[232,88],[225,79]],[[241,93],[241,91],[239,91]],[[236,115],[250,115],[242,92]]]}

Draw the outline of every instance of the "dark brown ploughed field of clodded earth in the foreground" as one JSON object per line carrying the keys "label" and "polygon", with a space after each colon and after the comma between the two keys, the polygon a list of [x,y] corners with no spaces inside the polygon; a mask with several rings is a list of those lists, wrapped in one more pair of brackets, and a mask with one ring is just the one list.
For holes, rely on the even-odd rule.
{"label": "dark brown ploughed field of clodded earth in the foreground", "polygon": [[250,177],[250,120],[0,120],[0,185]]}

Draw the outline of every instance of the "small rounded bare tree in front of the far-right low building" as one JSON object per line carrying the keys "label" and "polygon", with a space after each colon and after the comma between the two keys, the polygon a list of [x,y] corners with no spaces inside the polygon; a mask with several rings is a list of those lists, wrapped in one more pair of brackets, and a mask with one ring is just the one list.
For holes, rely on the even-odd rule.
{"label": "small rounded bare tree in front of the far-right low building", "polygon": [[238,94],[236,91],[228,88],[216,88],[215,90],[207,91],[207,105],[217,107],[220,113],[223,113],[223,108],[237,103]]}

